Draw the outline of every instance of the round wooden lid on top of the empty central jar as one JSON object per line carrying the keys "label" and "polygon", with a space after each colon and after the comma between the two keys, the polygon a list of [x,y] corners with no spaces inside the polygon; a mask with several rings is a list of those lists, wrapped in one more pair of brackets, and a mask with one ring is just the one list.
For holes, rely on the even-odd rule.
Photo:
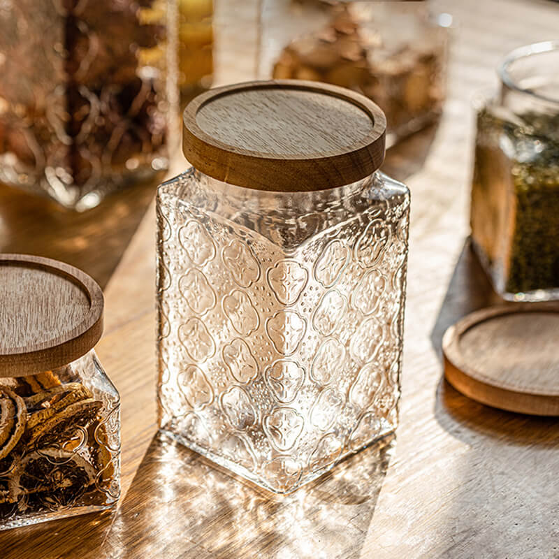
{"label": "round wooden lid on top of the empty central jar", "polygon": [[384,160],[386,118],[365,96],[302,80],[246,82],[198,95],[182,147],[218,180],[268,191],[340,187]]}

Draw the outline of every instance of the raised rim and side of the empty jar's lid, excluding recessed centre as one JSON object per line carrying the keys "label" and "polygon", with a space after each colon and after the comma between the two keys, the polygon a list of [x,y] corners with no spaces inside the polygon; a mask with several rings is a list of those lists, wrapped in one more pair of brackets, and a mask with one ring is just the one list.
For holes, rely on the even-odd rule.
{"label": "raised rim and side of the empty jar's lid, excluding recessed centre", "polygon": [[[226,145],[205,133],[196,122],[198,110],[212,99],[243,89],[273,87],[328,94],[352,103],[372,119],[372,136],[346,153],[276,158]],[[268,80],[217,87],[196,96],[183,114],[182,148],[194,168],[229,184],[264,191],[317,191],[357,182],[382,165],[385,143],[386,117],[375,103],[350,89],[321,82]]]}

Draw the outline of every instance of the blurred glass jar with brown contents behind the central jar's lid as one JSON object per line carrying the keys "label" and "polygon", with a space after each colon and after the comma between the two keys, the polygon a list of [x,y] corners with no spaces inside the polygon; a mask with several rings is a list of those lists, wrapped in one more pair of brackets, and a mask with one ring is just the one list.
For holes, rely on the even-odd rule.
{"label": "blurred glass jar with brown contents behind the central jar's lid", "polygon": [[354,89],[386,114],[386,141],[442,110],[451,16],[428,3],[263,0],[259,78],[317,80]]}

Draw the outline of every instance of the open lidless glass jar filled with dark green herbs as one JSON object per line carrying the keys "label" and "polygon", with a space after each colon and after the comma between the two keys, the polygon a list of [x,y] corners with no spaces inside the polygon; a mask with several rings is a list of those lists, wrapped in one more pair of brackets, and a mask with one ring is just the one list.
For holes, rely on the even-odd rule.
{"label": "open lidless glass jar filled with dark green herbs", "polygon": [[478,110],[472,241],[508,300],[559,298],[558,65],[557,43],[515,51]]}

